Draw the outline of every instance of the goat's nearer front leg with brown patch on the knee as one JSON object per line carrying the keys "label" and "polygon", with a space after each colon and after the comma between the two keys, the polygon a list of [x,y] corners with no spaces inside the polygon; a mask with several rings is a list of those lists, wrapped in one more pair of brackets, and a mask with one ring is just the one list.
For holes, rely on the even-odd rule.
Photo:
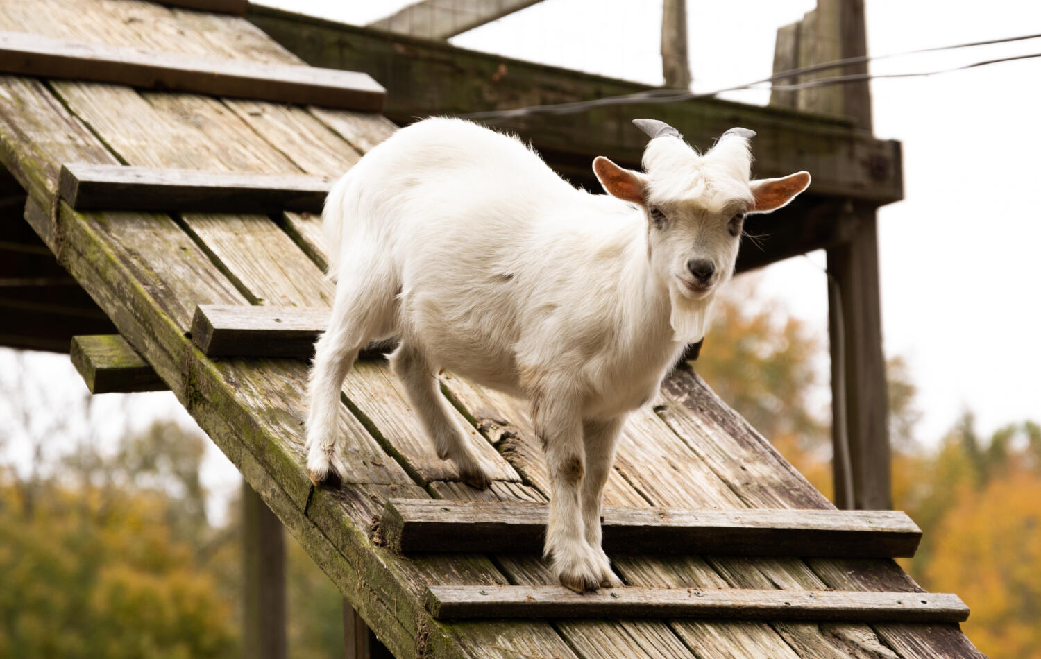
{"label": "goat's nearer front leg with brown patch on the knee", "polygon": [[544,389],[532,400],[535,432],[550,472],[550,522],[545,529],[545,556],[560,583],[575,590],[595,590],[603,575],[601,561],[585,539],[582,523],[582,483],[585,448],[578,401],[560,391]]}

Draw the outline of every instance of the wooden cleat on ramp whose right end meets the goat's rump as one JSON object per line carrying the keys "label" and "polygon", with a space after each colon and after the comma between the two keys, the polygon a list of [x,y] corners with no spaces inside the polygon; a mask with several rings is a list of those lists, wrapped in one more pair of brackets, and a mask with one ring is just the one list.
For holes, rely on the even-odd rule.
{"label": "wooden cleat on ramp whose right end meets the goat's rump", "polygon": [[242,174],[69,162],[61,198],[78,210],[322,212],[332,186],[323,176]]}

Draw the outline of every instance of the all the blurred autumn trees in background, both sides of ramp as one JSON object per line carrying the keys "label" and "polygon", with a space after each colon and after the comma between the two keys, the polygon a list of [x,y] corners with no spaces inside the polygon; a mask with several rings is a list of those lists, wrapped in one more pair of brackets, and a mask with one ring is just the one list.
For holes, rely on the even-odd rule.
{"label": "all the blurred autumn trees in background, both sides of ramp", "polygon": [[[827,330],[750,290],[719,306],[695,369],[831,495]],[[983,652],[1041,658],[1041,427],[981,436],[966,412],[946,436],[918,437],[899,358],[889,379],[895,503],[924,531],[905,568],[965,600],[963,629]],[[85,424],[70,410],[41,420],[30,381],[0,387],[0,413],[33,456],[30,470],[0,464],[0,657],[240,654],[238,506],[222,526],[207,519],[208,440],[160,422],[102,452],[90,399],[75,412]],[[87,430],[74,448],[48,450],[76,427]],[[290,654],[341,657],[339,594],[291,538],[286,547]]]}

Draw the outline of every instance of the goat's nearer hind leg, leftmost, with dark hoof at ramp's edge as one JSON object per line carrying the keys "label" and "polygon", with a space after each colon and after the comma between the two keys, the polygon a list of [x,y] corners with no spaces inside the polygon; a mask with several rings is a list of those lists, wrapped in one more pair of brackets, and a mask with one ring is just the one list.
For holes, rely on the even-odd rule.
{"label": "goat's nearer hind leg, leftmost, with dark hoof at ramp's edge", "polygon": [[358,263],[353,272],[340,275],[329,327],[314,346],[308,386],[307,473],[315,485],[347,474],[340,387],[358,352],[392,329],[395,286],[392,274],[375,263],[370,268]]}

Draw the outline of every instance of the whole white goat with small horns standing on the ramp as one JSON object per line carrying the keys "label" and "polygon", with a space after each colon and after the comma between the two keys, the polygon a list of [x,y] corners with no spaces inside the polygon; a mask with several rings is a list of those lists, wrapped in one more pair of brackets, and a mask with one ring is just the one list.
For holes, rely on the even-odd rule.
{"label": "whole white goat with small horns standing on the ramp", "polygon": [[788,203],[806,172],[750,181],[750,130],[700,155],[676,129],[652,140],[645,174],[605,157],[610,196],[557,176],[516,138],[465,121],[399,130],[334,185],[324,223],[338,279],[315,347],[307,468],[339,477],[339,390],[359,349],[398,337],[390,365],[464,482],[489,478],[438,390],[451,370],[526,397],[552,479],[545,553],[577,591],[618,585],[601,549],[600,504],[626,415],[700,340],[731,277],[745,214]]}

